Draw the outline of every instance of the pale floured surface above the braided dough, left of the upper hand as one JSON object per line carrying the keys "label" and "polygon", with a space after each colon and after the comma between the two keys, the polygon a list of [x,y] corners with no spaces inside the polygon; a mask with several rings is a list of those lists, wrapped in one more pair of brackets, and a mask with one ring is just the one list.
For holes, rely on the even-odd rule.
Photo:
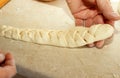
{"label": "pale floured surface above the braided dough, left of the upper hand", "polygon": [[74,20],[69,17],[70,12],[64,10],[61,6],[44,4],[37,0],[12,0],[0,10],[0,25],[43,29],[75,26]]}

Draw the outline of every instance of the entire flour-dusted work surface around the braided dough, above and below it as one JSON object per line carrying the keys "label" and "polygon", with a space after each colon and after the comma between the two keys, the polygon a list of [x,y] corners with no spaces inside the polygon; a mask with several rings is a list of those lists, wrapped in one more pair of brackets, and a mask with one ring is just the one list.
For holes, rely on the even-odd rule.
{"label": "entire flour-dusted work surface around the braided dough, above and below it", "polygon": [[[46,4],[57,7],[49,6],[50,10],[42,7]],[[55,12],[55,16],[47,15],[48,11],[51,14]],[[20,28],[69,28],[74,26],[69,16],[71,14],[64,0],[52,3],[12,0],[1,9],[0,24]],[[46,19],[47,23],[44,22]],[[0,48],[14,55],[18,73],[28,78],[120,78],[119,26],[117,22],[113,42],[102,49],[60,48],[3,37],[0,37]]]}

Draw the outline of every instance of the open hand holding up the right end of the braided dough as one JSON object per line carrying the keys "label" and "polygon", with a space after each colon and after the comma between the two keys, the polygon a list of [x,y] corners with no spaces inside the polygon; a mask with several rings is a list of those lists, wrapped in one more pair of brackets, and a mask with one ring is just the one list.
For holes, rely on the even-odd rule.
{"label": "open hand holding up the right end of the braided dough", "polygon": [[[114,13],[109,0],[67,0],[77,26],[89,27],[93,24],[114,25],[120,16]],[[85,24],[84,24],[85,23]],[[89,47],[101,48],[104,40],[91,43]]]}

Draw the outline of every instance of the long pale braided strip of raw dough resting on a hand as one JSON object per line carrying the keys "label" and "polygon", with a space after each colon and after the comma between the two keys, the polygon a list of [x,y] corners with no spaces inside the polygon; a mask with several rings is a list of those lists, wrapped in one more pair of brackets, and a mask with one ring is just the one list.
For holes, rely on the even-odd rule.
{"label": "long pale braided strip of raw dough resting on a hand", "polygon": [[1,26],[0,36],[38,44],[61,47],[81,47],[112,36],[114,29],[108,24],[93,25],[90,28],[74,27],[67,30],[19,29]]}

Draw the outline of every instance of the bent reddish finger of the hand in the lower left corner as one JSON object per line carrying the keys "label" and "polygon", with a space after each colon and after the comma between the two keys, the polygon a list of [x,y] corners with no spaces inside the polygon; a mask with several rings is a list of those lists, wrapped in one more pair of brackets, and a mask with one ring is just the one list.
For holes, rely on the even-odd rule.
{"label": "bent reddish finger of the hand in the lower left corner", "polygon": [[5,56],[5,66],[15,66],[14,57],[10,53],[7,53]]}

